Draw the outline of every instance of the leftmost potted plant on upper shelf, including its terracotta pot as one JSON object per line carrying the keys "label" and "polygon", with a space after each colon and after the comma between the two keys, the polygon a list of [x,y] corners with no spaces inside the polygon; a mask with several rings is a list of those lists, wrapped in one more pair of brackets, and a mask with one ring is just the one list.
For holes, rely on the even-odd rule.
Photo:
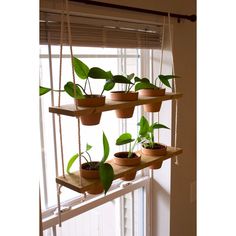
{"label": "leftmost potted plant on upper shelf, including its terracotta pot", "polygon": [[[74,84],[69,81],[64,85],[64,90],[61,92],[66,92],[68,95],[73,97],[76,101],[77,106],[81,107],[98,107],[105,104],[105,96],[103,95],[104,91],[109,91],[114,87],[112,80],[112,73],[110,71],[104,71],[99,67],[89,68],[85,63],[83,63],[78,58],[73,58],[73,66],[76,75],[84,80],[84,86],[80,84]],[[93,94],[90,80],[93,79],[103,79],[105,84],[103,90],[100,94]],[[51,89],[40,86],[40,95],[43,95],[49,92]],[[54,90],[59,92],[59,90]],[[97,125],[101,119],[101,112],[93,113],[91,115],[81,116],[81,121],[83,125]]]}

